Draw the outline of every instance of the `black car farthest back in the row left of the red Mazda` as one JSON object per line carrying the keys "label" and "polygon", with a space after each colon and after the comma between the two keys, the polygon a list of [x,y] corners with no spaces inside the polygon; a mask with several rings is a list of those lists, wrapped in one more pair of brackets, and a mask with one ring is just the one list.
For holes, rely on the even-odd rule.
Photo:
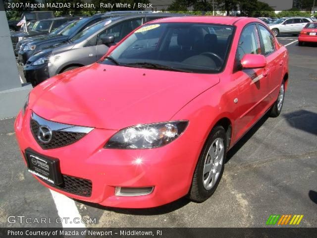
{"label": "black car farthest back in the row left of the red Mazda", "polygon": [[38,36],[38,35],[46,35],[57,29],[59,26],[64,24],[67,21],[74,20],[75,18],[72,16],[67,17],[55,17],[51,19],[39,20],[34,23],[32,29],[28,32],[19,31],[19,32],[11,32],[11,41],[13,45],[13,49],[15,49],[16,44],[27,37]]}

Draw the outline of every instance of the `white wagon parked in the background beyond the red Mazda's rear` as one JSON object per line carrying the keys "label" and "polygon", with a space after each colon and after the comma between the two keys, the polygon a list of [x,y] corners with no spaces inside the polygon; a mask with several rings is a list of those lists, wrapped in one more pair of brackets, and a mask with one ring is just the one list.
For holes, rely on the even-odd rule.
{"label": "white wagon parked in the background beyond the red Mazda's rear", "polygon": [[297,35],[308,22],[313,22],[313,20],[309,17],[291,17],[286,19],[281,18],[274,24],[269,24],[268,26],[274,36],[278,36],[279,34]]}

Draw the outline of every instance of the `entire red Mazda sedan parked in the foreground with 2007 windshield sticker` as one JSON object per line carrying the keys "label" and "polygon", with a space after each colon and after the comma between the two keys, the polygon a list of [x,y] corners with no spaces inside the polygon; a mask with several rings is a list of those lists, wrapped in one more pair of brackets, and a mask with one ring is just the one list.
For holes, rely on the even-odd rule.
{"label": "entire red Mazda sedan parked in the foreground with 2007 windshield sticker", "polygon": [[203,202],[227,151],[266,112],[280,114],[287,81],[288,52],[259,19],[159,19],[35,87],[16,137],[29,172],[69,197],[123,208]]}

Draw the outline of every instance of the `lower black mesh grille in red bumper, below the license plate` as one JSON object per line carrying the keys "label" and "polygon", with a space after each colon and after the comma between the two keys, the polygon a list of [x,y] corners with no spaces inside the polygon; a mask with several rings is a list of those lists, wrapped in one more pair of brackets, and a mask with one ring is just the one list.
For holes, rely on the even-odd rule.
{"label": "lower black mesh grille in red bumper, below the license plate", "polygon": [[65,192],[69,192],[75,195],[84,196],[84,197],[90,197],[92,192],[92,181],[89,179],[80,179],[76,177],[72,177],[69,175],[62,175],[63,177],[63,184],[61,185],[55,185],[53,183],[50,183],[44,179],[41,179],[48,185],[55,187],[57,189],[60,189]]}

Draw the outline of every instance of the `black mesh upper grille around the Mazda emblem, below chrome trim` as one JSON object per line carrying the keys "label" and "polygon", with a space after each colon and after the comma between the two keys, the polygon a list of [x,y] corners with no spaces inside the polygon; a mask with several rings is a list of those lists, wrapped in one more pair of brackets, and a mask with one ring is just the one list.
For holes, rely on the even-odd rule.
{"label": "black mesh upper grille around the Mazda emblem, below chrome trim", "polygon": [[52,131],[52,139],[50,143],[43,143],[38,138],[38,131],[39,131],[39,123],[37,123],[34,119],[30,120],[30,128],[35,140],[38,144],[42,147],[42,149],[55,149],[62,146],[70,145],[79,139],[83,138],[86,133],[80,132],[70,132],[70,131]]}

